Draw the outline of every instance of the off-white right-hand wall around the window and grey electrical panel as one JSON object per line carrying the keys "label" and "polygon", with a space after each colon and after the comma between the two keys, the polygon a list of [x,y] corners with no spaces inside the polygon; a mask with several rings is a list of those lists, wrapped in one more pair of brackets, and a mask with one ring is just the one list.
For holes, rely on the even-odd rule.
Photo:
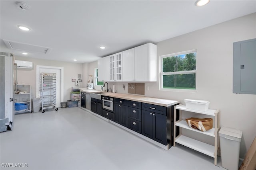
{"label": "off-white right-hand wall around the window and grey electrical panel", "polygon": [[[184,99],[210,101],[211,109],[220,109],[220,126],[242,130],[240,157],[244,158],[256,136],[256,95],[232,93],[233,42],[253,38],[256,13],[156,43],[158,70],[159,56],[197,49],[197,92],[160,91],[158,74],[158,82],[145,83],[149,86],[145,96],[182,104]],[[128,93],[128,82],[109,82],[110,87],[113,84],[118,93]]]}

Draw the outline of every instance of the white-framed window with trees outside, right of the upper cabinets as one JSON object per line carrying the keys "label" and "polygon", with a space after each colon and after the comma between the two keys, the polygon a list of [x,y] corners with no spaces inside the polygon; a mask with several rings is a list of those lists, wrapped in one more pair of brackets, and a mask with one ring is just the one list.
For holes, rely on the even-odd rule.
{"label": "white-framed window with trees outside, right of the upper cabinets", "polygon": [[160,90],[196,92],[196,50],[160,56]]}

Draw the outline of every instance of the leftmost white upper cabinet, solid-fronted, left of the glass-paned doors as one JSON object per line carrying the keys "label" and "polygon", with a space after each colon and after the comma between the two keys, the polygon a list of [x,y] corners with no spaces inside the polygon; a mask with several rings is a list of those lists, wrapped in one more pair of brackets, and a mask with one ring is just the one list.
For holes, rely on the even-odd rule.
{"label": "leftmost white upper cabinet, solid-fronted, left of the glass-paned doors", "polygon": [[98,59],[98,81],[106,82],[110,80],[109,58],[110,56]]}

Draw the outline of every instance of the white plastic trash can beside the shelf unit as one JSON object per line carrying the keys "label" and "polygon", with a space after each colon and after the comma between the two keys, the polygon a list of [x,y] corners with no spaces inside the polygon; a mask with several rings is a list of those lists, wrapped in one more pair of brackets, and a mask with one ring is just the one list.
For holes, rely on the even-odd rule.
{"label": "white plastic trash can beside the shelf unit", "polygon": [[222,167],[228,170],[238,170],[242,131],[221,127],[219,135]]}

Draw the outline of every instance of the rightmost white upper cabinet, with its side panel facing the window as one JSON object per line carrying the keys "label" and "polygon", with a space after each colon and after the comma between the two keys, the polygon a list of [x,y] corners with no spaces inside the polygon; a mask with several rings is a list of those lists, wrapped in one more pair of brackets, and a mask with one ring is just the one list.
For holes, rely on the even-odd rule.
{"label": "rightmost white upper cabinet, with its side panel facing the window", "polygon": [[156,63],[156,45],[148,43],[135,47],[134,80],[137,82],[156,82]]}

